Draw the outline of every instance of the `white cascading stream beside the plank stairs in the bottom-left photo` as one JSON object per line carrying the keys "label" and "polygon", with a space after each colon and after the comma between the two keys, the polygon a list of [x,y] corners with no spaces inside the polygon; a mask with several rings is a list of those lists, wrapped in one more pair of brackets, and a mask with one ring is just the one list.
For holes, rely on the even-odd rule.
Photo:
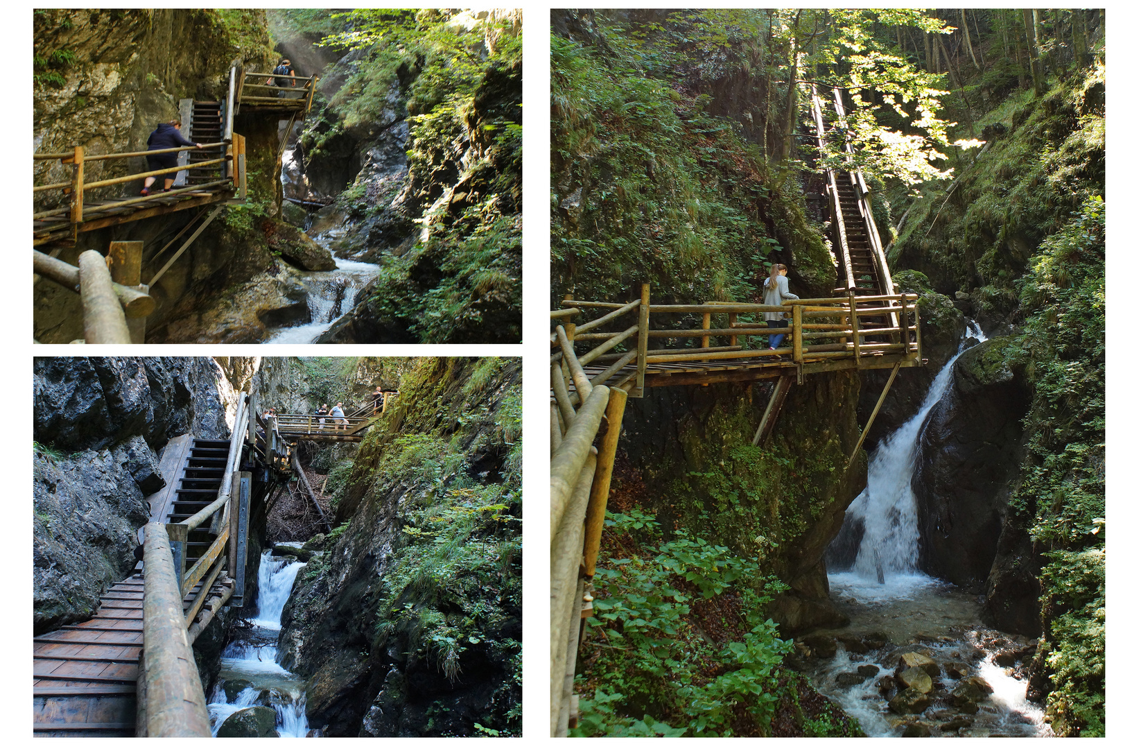
{"label": "white cascading stream beside the plank stairs in the bottom-left photo", "polygon": [[[287,545],[300,546],[291,541]],[[268,711],[275,713],[274,728],[279,737],[308,736],[304,681],[276,661],[281,612],[292,593],[296,573],[303,566],[304,563],[291,557],[274,558],[271,549],[262,554],[257,573],[257,616],[249,620],[252,628],[222,652],[222,670],[208,698],[213,736],[219,736],[222,724],[238,711],[258,707],[266,710],[256,711],[255,720],[267,721]]]}

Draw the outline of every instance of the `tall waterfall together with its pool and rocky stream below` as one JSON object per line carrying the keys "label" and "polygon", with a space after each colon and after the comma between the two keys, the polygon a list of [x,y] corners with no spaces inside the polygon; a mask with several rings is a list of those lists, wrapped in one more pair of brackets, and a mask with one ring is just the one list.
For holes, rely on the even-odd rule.
{"label": "tall waterfall together with its pool and rocky stream below", "polygon": [[[917,568],[912,482],[921,435],[952,384],[956,360],[985,339],[969,321],[968,338],[920,409],[878,445],[867,486],[829,550],[831,600],[850,624],[805,637],[818,657],[804,670],[869,736],[1050,734],[1041,709],[1025,700],[1017,663],[1031,642],[985,628],[977,595]],[[913,664],[917,670],[904,674]],[[902,682],[915,682],[916,691]]]}

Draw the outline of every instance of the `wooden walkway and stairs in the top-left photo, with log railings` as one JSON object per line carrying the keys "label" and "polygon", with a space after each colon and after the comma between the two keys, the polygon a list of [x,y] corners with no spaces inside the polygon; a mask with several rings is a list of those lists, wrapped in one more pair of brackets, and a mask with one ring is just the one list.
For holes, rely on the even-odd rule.
{"label": "wooden walkway and stairs in the top-left photo, with log railings", "polygon": [[[270,73],[252,73],[235,65],[230,68],[225,99],[180,100],[182,134],[202,148],[88,154],[82,146],[74,145],[64,152],[35,154],[36,177],[54,181],[36,184],[33,189],[36,207],[33,244],[49,250],[34,250],[34,282],[38,284],[46,277],[81,294],[85,337],[76,342],[144,342],[143,319],[155,309],[148,290],[223,207],[245,202],[248,183],[246,139],[234,131],[236,115],[256,112],[287,119],[287,129],[277,150],[280,162],[294,124],[311,110],[317,79],[289,76],[284,80],[294,85],[277,88],[266,85],[270,77]],[[129,165],[119,165],[129,159],[136,164],[149,155],[171,153],[179,154],[179,164],[174,167],[127,173]],[[86,170],[100,179],[90,180]],[[146,177],[156,179],[157,185],[162,179],[174,177],[175,182],[170,191],[138,194]],[[124,188],[128,184],[135,184],[136,192]],[[82,232],[197,209],[201,210],[183,230],[147,258],[147,265],[152,266],[147,272],[143,267],[141,243],[112,243],[106,253],[86,250],[76,266],[58,259],[64,248],[77,244]],[[188,231],[191,235],[157,267],[157,259]],[[121,257],[115,262],[112,245],[135,247],[119,250]]]}

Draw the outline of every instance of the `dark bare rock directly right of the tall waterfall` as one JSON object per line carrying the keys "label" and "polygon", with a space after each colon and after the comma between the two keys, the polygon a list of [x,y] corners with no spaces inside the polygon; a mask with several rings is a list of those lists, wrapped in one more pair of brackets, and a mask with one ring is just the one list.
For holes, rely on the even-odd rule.
{"label": "dark bare rock directly right of the tall waterfall", "polygon": [[997,552],[1029,408],[1005,348],[996,338],[956,362],[952,387],[921,436],[913,479],[921,568],[977,592]]}

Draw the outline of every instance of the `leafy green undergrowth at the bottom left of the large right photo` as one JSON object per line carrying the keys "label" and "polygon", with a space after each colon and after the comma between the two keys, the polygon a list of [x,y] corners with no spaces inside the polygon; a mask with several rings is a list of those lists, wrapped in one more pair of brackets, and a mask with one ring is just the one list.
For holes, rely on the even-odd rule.
{"label": "leafy green undergrowth at the bottom left of the large right photo", "polygon": [[[792,641],[764,614],[785,586],[723,546],[664,537],[641,510],[609,512],[603,542],[570,736],[769,736],[780,701],[798,703],[779,688]],[[825,725],[804,728],[852,734],[844,718]]]}

